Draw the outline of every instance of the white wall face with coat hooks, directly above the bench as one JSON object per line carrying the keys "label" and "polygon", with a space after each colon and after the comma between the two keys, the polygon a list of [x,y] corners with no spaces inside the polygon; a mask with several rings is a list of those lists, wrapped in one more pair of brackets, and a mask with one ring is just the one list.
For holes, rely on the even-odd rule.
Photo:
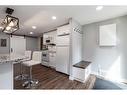
{"label": "white wall face with coat hooks, directly above the bench", "polygon": [[77,21],[72,19],[71,28],[72,65],[74,65],[82,60],[82,33],[76,30],[78,29],[82,32],[82,27]]}

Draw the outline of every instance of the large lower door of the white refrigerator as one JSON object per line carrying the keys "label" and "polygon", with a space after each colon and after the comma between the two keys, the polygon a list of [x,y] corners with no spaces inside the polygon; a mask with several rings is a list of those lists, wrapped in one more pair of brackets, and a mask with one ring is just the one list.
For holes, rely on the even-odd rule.
{"label": "large lower door of the white refrigerator", "polygon": [[69,74],[69,47],[57,47],[56,71]]}

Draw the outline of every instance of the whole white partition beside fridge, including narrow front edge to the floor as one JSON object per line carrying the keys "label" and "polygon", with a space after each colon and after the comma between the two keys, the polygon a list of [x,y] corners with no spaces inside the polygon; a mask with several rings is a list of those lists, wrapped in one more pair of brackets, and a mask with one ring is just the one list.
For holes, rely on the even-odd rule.
{"label": "whole white partition beside fridge, including narrow front edge to the floor", "polygon": [[[70,19],[70,79],[73,79],[73,65],[82,60],[82,26],[75,21]],[[80,30],[80,33],[79,31]]]}

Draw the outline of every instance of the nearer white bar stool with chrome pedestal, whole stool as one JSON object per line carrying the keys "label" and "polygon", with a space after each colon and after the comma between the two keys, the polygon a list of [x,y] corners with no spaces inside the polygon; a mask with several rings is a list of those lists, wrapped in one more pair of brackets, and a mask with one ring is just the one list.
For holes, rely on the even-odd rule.
{"label": "nearer white bar stool with chrome pedestal, whole stool", "polygon": [[25,66],[30,67],[30,78],[27,81],[25,81],[22,86],[26,88],[31,88],[39,83],[37,79],[33,79],[32,77],[32,66],[40,64],[41,62],[42,62],[42,52],[40,51],[34,51],[32,55],[32,60],[23,62]]}

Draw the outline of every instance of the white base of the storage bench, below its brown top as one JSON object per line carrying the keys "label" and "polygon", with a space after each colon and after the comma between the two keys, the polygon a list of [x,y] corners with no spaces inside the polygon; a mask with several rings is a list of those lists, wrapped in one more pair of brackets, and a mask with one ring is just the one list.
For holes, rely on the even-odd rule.
{"label": "white base of the storage bench, below its brown top", "polygon": [[83,69],[78,67],[73,67],[73,78],[74,80],[85,82],[90,74],[90,65]]}

